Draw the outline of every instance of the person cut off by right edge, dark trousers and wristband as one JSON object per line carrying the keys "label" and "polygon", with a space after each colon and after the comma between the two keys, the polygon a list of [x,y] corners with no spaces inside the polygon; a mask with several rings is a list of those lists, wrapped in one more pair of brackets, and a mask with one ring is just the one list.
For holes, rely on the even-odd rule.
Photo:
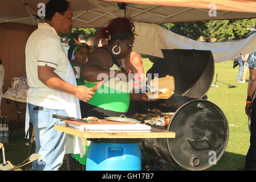
{"label": "person cut off by right edge, dark trousers and wristband", "polygon": [[[245,113],[251,118],[250,123],[250,147],[245,158],[246,171],[256,171],[256,52],[250,53],[248,57],[250,76],[247,90]],[[254,98],[254,100],[253,100]]]}

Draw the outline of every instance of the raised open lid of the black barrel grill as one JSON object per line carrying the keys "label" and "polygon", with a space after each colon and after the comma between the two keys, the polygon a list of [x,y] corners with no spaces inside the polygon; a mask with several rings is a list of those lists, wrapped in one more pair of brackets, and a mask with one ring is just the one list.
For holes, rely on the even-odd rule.
{"label": "raised open lid of the black barrel grill", "polygon": [[162,49],[164,75],[175,80],[175,93],[191,98],[202,98],[214,77],[214,59],[211,51]]}

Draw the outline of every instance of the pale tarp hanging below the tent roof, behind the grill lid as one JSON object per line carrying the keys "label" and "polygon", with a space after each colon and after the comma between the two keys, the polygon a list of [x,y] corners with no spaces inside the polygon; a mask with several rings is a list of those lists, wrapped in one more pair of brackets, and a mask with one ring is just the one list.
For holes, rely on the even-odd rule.
{"label": "pale tarp hanging below the tent roof, behind the grill lid", "polygon": [[[246,38],[229,42],[201,42],[168,31],[156,24],[135,23],[135,52],[163,57],[161,49],[210,50],[214,62],[220,63],[256,51],[256,32]],[[147,46],[145,46],[147,45]]]}

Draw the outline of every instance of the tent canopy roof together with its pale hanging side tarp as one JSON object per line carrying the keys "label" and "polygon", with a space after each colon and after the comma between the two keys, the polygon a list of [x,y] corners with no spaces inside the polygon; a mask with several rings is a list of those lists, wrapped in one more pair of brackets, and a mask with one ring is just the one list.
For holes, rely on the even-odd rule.
{"label": "tent canopy roof together with its pale hanging side tarp", "polygon": [[[42,13],[42,3],[47,2],[48,0],[1,0],[0,23],[18,22],[36,26],[39,22],[43,22],[43,17],[38,15]],[[256,43],[253,39],[255,34],[247,39],[233,42],[206,43],[174,34],[157,25],[170,22],[256,18],[254,8],[256,2],[253,0],[123,0],[122,2],[70,0],[70,2],[74,14],[74,27],[103,27],[108,20],[118,16],[130,17],[136,22],[136,32],[140,35],[136,37],[134,45],[134,51],[139,53],[162,57],[161,49],[202,49],[211,50],[214,60],[220,62],[256,51]]]}

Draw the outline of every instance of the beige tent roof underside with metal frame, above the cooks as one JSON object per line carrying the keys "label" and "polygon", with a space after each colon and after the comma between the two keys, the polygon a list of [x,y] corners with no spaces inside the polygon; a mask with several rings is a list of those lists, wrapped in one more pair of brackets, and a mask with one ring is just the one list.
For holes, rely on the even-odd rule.
{"label": "beige tent roof underside with metal frame, above the cooks", "polygon": [[[131,17],[133,22],[174,23],[216,19],[256,18],[255,0],[70,0],[74,28],[102,27],[108,20]],[[0,23],[18,22],[36,25],[38,4],[48,0],[1,0]],[[217,16],[209,16],[210,3],[217,6]]]}

